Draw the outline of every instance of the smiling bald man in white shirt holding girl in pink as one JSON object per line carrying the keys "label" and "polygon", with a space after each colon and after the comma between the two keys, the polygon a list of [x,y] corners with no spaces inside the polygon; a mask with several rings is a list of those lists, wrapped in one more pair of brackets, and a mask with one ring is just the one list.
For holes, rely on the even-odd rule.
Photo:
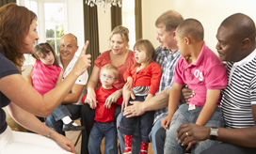
{"label": "smiling bald man in white shirt holding girl in pink", "polygon": [[[62,80],[71,72],[74,64],[78,59],[75,53],[78,50],[77,39],[73,34],[66,34],[59,40],[59,66],[63,69]],[[72,91],[62,101],[71,113],[72,120],[80,117],[81,113],[81,97],[85,95],[85,85],[88,83],[88,71],[84,72],[77,78],[75,84],[72,86]],[[46,125],[54,128],[58,133],[65,135],[63,131],[63,122],[56,120],[53,114],[46,117]]]}

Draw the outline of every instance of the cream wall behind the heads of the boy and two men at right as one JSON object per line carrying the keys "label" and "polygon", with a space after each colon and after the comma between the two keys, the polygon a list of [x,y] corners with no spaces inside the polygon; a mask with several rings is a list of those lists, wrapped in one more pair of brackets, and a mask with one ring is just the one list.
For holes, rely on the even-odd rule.
{"label": "cream wall behind the heads of the boy and two men at right", "polygon": [[184,19],[195,18],[204,26],[205,41],[216,51],[216,31],[219,24],[233,13],[242,12],[256,22],[256,1],[254,0],[142,0],[143,38],[150,39],[155,47],[156,40],[154,22],[159,15],[168,9],[180,12]]}

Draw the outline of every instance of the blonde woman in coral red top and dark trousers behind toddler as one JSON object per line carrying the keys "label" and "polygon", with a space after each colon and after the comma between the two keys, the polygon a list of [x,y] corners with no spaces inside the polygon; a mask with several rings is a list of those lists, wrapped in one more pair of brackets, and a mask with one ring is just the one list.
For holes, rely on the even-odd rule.
{"label": "blonde woman in coral red top and dark trousers behind toddler", "polygon": [[[94,123],[93,118],[95,112],[93,109],[97,106],[94,90],[98,85],[101,86],[101,69],[106,64],[112,64],[119,69],[119,78],[114,83],[114,86],[119,90],[111,94],[105,100],[106,103],[116,102],[120,98],[122,86],[125,84],[125,81],[123,80],[123,73],[136,62],[134,52],[129,50],[129,30],[126,27],[121,25],[115,27],[109,40],[110,50],[105,51],[95,60],[95,65],[88,80],[88,96],[85,100],[86,104],[83,105],[81,112],[81,124],[86,127],[86,130],[82,131],[82,154],[88,154],[88,135]],[[120,113],[120,106],[117,106],[116,113]]]}

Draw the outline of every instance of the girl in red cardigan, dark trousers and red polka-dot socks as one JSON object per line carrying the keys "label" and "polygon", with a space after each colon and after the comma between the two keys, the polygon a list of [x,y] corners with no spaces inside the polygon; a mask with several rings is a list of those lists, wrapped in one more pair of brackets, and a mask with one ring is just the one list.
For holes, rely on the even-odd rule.
{"label": "girl in red cardigan, dark trousers and red polka-dot socks", "polygon": [[[123,74],[127,81],[125,86],[132,91],[136,97],[135,100],[144,101],[152,98],[157,91],[162,69],[159,64],[153,62],[155,49],[152,43],[147,39],[138,40],[134,46],[136,65],[126,70]],[[130,99],[130,101],[134,101]],[[122,104],[124,107],[127,104]],[[130,105],[130,102],[128,103]],[[123,108],[123,107],[122,107]],[[146,112],[143,115],[126,118],[122,116],[120,121],[120,132],[124,133],[125,149],[124,153],[131,153],[132,137],[136,130],[136,122],[139,121],[141,133],[140,154],[148,153],[150,143],[149,134],[152,130],[154,112]]]}

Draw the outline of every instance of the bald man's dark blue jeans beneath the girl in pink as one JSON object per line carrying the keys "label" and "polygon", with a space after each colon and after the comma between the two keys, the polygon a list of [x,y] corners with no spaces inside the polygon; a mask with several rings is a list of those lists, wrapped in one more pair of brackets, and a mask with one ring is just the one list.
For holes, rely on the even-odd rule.
{"label": "bald man's dark blue jeans beneath the girl in pink", "polygon": [[[72,120],[80,117],[81,105],[65,104],[65,106],[70,111]],[[48,127],[54,128],[58,133],[65,135],[65,131],[62,131],[63,122],[61,120],[57,121],[53,113],[46,117],[45,123]]]}

